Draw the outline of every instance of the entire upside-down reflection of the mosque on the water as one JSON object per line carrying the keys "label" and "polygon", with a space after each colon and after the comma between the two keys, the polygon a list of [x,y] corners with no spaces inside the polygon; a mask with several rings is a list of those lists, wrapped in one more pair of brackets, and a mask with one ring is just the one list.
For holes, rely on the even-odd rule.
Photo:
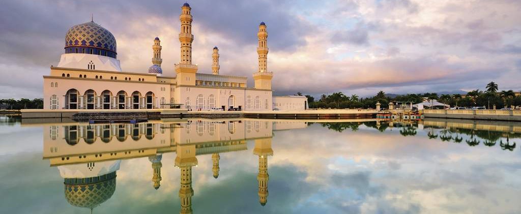
{"label": "entire upside-down reflection of the mosque on the water", "polygon": [[[148,157],[152,183],[159,189],[163,153],[175,152],[174,165],[180,170],[180,213],[191,213],[192,167],[197,155],[212,154],[213,177],[219,176],[219,153],[247,150],[253,140],[258,156],[258,196],[262,206],[268,197],[268,156],[272,131],[305,128],[299,121],[255,119],[175,119],[141,124],[46,125],[44,158],[57,166],[64,178],[65,196],[73,206],[93,209],[116,190],[116,171],[122,159]],[[44,132],[45,133],[45,132]]]}

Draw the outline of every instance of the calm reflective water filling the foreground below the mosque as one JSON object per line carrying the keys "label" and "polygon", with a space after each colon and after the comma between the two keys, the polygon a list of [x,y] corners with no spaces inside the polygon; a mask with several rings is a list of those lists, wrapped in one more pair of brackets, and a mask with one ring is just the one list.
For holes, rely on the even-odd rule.
{"label": "calm reflective water filling the foreground below the mosque", "polygon": [[1,213],[519,213],[521,124],[0,117]]}

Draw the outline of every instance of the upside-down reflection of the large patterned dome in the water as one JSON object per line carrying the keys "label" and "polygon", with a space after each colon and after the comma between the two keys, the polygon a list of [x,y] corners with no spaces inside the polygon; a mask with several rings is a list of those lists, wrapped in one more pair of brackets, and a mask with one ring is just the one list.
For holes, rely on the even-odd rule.
{"label": "upside-down reflection of the large patterned dome in the water", "polygon": [[72,206],[94,208],[116,191],[116,172],[92,178],[66,178],[65,198]]}

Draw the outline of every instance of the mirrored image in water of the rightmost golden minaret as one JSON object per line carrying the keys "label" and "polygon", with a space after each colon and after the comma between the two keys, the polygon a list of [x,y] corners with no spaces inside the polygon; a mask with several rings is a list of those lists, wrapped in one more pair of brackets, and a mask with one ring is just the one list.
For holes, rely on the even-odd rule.
{"label": "mirrored image in water of the rightmost golden minaret", "polygon": [[268,202],[268,155],[273,155],[271,138],[255,140],[253,154],[259,156],[259,172],[257,174],[259,202],[262,206]]}

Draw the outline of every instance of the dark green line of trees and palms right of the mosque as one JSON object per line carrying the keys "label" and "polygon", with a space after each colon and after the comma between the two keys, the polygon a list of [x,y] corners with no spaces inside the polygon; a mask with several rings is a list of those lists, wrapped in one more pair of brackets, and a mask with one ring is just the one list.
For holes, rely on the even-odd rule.
{"label": "dark green line of trees and palms right of the mosque", "polygon": [[[313,96],[305,95],[307,103],[311,109],[356,109],[356,108],[376,108],[376,103],[380,102],[381,108],[389,108],[389,102],[412,102],[420,103],[427,100],[438,100],[439,102],[449,104],[451,106],[485,106],[492,109],[493,105],[497,109],[510,107],[512,105],[521,105],[521,96],[516,96],[513,90],[498,91],[498,84],[490,82],[486,85],[485,91],[476,89],[467,92],[466,95],[461,94],[443,94],[438,93],[411,93],[407,95],[398,95],[389,97],[384,91],[379,91],[373,97],[361,98],[358,95],[347,96],[342,92],[334,92],[330,95],[321,95],[318,100]],[[302,96],[299,92],[297,95]]]}

